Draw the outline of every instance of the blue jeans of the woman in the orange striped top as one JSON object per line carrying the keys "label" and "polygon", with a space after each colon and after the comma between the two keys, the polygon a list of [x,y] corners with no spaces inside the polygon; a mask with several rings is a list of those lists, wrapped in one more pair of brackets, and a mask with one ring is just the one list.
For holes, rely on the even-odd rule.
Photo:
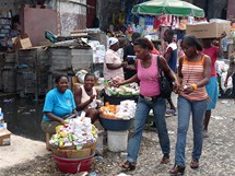
{"label": "blue jeans of the woman in the orange striped top", "polygon": [[190,114],[192,114],[193,149],[192,159],[200,159],[203,141],[203,118],[207,110],[207,99],[189,101],[178,96],[178,129],[175,150],[175,164],[185,166],[186,138],[189,127]]}

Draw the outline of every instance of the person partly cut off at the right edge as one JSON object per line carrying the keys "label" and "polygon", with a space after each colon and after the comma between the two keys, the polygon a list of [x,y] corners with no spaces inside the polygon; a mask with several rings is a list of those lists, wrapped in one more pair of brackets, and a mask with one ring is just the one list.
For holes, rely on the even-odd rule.
{"label": "person partly cut off at the right edge", "polygon": [[232,77],[233,79],[233,91],[230,97],[235,98],[235,52],[230,56],[230,68],[227,70],[227,75],[224,82],[224,86],[227,87],[227,80]]}

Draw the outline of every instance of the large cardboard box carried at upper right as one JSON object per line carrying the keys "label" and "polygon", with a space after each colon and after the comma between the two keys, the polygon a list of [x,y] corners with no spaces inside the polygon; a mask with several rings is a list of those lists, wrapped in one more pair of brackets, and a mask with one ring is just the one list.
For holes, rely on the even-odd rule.
{"label": "large cardboard box carried at upper right", "polygon": [[186,30],[186,34],[195,35],[197,38],[218,38],[223,32],[231,33],[230,22],[188,24]]}

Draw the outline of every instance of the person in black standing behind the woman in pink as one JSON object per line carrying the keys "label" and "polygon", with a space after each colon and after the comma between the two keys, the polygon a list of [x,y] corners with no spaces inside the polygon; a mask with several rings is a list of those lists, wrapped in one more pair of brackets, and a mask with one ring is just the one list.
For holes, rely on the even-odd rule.
{"label": "person in black standing behind the woman in pink", "polygon": [[128,67],[124,69],[125,71],[125,80],[130,79],[137,73],[136,67],[134,67],[134,50],[133,50],[133,43],[137,38],[139,38],[141,35],[138,32],[134,32],[131,36],[131,43],[124,47],[124,60],[128,62]]}

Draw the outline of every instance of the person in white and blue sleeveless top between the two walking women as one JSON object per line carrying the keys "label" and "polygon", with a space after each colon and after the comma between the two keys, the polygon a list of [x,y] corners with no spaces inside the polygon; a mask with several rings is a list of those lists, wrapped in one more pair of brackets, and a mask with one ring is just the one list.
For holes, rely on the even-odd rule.
{"label": "person in white and blue sleeveless top between the two walking women", "polygon": [[[164,52],[164,58],[167,60],[169,68],[176,73],[177,70],[177,44],[173,40],[174,32],[171,28],[167,28],[164,33],[164,40],[168,44],[166,50]],[[176,115],[176,107],[173,104],[172,97],[166,98],[169,103],[169,108],[172,109],[172,114]]]}

